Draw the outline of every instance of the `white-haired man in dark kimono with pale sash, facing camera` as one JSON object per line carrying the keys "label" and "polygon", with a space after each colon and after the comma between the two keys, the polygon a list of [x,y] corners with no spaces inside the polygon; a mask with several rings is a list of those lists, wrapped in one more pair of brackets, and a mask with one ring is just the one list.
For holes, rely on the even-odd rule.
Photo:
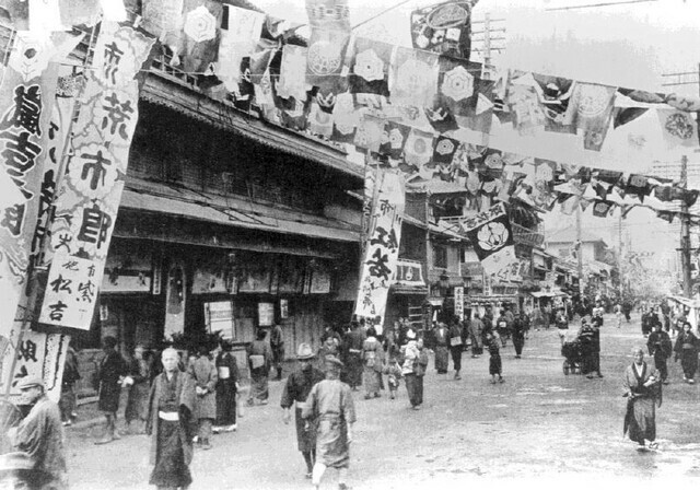
{"label": "white-haired man in dark kimono with pale sash, facing camera", "polygon": [[195,410],[195,382],[177,369],[179,355],[175,349],[162,353],[163,372],[153,380],[149,397],[145,433],[151,436],[149,480],[159,489],[187,489],[192,482],[189,464],[192,460],[191,419]]}

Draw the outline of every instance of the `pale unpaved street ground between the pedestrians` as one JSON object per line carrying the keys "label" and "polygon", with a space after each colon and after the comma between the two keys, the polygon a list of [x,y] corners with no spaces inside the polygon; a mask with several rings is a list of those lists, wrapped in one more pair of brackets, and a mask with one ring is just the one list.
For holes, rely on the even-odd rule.
{"label": "pale unpaved street ground between the pedestrians", "polygon": [[[670,361],[672,384],[657,410],[660,451],[638,452],[622,438],[621,373],[630,350],[645,341],[639,316],[602,331],[604,378],[564,376],[555,329],[533,331],[523,359],[502,350],[505,383],[491,385],[488,354],[464,354],[463,380],[438,375],[432,361],[421,411],[399,398],[364,400],[355,394],[358,423],[350,481],[354,489],[433,488],[438,482],[491,481],[497,486],[536,480],[552,486],[600,480],[700,476],[698,385],[682,383]],[[649,358],[648,358],[649,360]],[[451,363],[452,365],[452,363]],[[307,489],[293,424],[281,420],[282,384],[271,385],[271,402],[248,408],[238,431],[218,435],[213,450],[198,451],[196,489]],[[95,446],[97,429],[71,431],[70,478],[75,489],[149,488],[145,436]],[[328,471],[322,488],[336,488]]]}

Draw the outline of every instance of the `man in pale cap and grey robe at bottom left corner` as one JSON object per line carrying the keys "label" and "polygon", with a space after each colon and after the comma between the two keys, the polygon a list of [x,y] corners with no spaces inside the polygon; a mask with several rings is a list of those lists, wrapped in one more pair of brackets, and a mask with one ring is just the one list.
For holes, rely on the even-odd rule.
{"label": "man in pale cap and grey robe at bottom left corner", "polygon": [[32,409],[16,429],[11,429],[10,439],[15,450],[27,454],[34,463],[28,477],[31,488],[67,489],[63,427],[58,406],[48,399],[38,376],[24,377],[19,387]]}

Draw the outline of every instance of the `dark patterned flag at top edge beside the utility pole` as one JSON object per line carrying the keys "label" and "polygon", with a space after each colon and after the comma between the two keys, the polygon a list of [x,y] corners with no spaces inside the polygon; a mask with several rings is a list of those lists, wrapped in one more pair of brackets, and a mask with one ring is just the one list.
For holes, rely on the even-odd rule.
{"label": "dark patterned flag at top edge beside the utility pole", "polygon": [[471,51],[472,3],[451,0],[411,12],[413,47],[468,60]]}

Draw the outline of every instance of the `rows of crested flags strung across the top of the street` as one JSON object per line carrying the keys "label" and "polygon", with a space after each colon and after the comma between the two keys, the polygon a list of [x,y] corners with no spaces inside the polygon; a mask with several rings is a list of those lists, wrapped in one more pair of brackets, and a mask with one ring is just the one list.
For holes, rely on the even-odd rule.
{"label": "rows of crested flags strung across the top of the street", "polygon": [[[55,0],[54,19],[98,19],[104,2],[81,2]],[[515,196],[598,215],[646,207],[673,219],[685,202],[700,220],[696,189],[646,175],[700,149],[700,98],[510,69],[483,80],[468,61],[474,2],[415,11],[412,48],[353,35],[341,0],[307,0],[307,40],[299,25],[214,0],[125,3],[174,66],[206,73],[209,95],[366,153],[413,186],[451,182],[488,206]],[[26,25],[46,27],[33,4]]]}

